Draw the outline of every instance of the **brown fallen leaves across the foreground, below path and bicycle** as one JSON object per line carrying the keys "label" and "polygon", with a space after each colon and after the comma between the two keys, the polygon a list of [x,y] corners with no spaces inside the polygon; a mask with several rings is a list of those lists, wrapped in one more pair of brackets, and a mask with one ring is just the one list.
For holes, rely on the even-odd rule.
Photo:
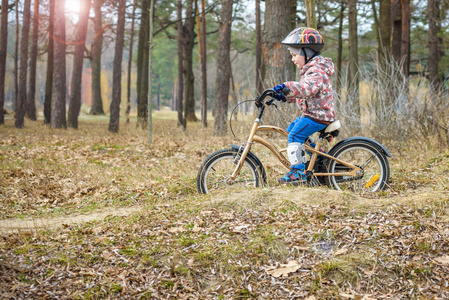
{"label": "brown fallen leaves across the foreground, below path and bicycle", "polygon": [[[18,298],[56,295],[67,286],[80,297],[100,286],[103,294],[117,289],[123,298],[141,295],[148,286],[152,297],[163,299],[449,296],[449,224],[436,218],[420,218],[418,224],[420,207],[363,212],[344,206],[184,205],[161,203],[143,215],[5,237],[0,262],[14,262],[21,273],[12,269],[18,275],[3,282],[0,276],[0,283],[20,283]],[[322,216],[328,220],[315,220]],[[34,278],[43,283],[31,289]]]}

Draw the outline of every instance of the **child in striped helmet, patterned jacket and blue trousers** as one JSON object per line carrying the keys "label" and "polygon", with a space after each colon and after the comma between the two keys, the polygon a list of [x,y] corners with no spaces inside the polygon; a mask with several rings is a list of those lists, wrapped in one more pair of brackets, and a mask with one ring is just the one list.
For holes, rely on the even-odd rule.
{"label": "child in striped helmet, patterned jacket and blue trousers", "polygon": [[[324,47],[321,34],[313,29],[296,28],[282,41],[292,55],[293,63],[300,69],[301,80],[288,81],[276,85],[277,100],[285,99],[296,102],[302,110],[302,116],[288,126],[287,154],[291,163],[291,170],[282,178],[280,183],[298,183],[307,180],[305,173],[304,142],[307,137],[326,128],[335,121],[334,98],[330,77],[334,74],[332,59],[320,55]],[[287,87],[288,96],[282,94]]]}

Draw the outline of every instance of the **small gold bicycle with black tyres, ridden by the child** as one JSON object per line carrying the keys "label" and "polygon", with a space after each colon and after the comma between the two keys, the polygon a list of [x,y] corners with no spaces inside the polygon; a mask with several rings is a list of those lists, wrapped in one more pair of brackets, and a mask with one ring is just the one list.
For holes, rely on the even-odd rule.
{"label": "small gold bicycle with black tyres, ridden by the child", "polygon": [[[290,169],[290,162],[283,154],[287,148],[277,149],[273,143],[256,135],[257,132],[266,131],[288,137],[288,132],[283,128],[260,125],[265,108],[271,105],[276,106],[274,93],[271,89],[265,90],[254,100],[258,113],[246,143],[240,146],[231,145],[229,149],[216,151],[202,163],[197,176],[199,193],[206,194],[232,186],[266,185],[265,168],[259,158],[250,151],[253,143],[267,147],[282,165]],[[283,94],[288,95],[288,93],[288,89],[284,89]],[[268,96],[271,98],[265,101]],[[355,136],[339,141],[328,153],[322,150],[325,141],[329,143],[338,136],[340,127],[340,121],[335,121],[319,131],[316,144],[311,137],[304,143],[305,151],[309,154],[309,160],[306,162],[306,184],[327,185],[337,190],[349,190],[357,194],[374,193],[385,189],[390,178],[387,157],[391,155],[379,142],[371,138]]]}

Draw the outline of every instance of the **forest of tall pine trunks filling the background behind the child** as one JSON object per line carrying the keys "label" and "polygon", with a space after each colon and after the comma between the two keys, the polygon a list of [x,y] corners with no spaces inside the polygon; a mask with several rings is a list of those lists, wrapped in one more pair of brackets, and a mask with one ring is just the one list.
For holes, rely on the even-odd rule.
{"label": "forest of tall pine trunks filling the background behind the child", "polygon": [[[448,142],[447,1],[236,1],[229,20],[220,1],[10,2],[2,6],[0,105],[14,113],[17,128],[40,116],[54,128],[77,128],[80,113],[106,113],[117,132],[120,115],[126,122],[136,115],[145,126],[149,106],[178,111],[184,129],[207,126],[211,112],[214,134],[226,134],[230,106],[295,79],[288,52],[277,53],[276,45],[311,22],[337,69],[341,118],[382,123],[351,127],[400,124]],[[231,27],[220,39],[225,21]],[[414,99],[415,87],[438,96]]]}

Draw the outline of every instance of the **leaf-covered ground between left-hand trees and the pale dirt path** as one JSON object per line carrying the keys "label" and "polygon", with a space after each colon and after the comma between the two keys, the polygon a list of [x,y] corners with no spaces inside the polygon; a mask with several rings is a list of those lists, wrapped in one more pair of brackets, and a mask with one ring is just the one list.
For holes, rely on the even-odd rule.
{"label": "leaf-covered ground between left-hand trees and the pale dirt path", "polygon": [[[178,179],[185,178],[185,170],[198,168],[203,159],[198,147],[185,142],[180,147],[178,137],[167,136],[155,138],[154,150],[149,150],[139,130],[108,137],[101,125],[84,126],[88,130],[63,135],[53,135],[41,124],[21,135],[2,130],[1,218],[69,213],[111,202],[142,204],[196,192],[190,182]],[[185,168],[173,167],[181,161]]]}

